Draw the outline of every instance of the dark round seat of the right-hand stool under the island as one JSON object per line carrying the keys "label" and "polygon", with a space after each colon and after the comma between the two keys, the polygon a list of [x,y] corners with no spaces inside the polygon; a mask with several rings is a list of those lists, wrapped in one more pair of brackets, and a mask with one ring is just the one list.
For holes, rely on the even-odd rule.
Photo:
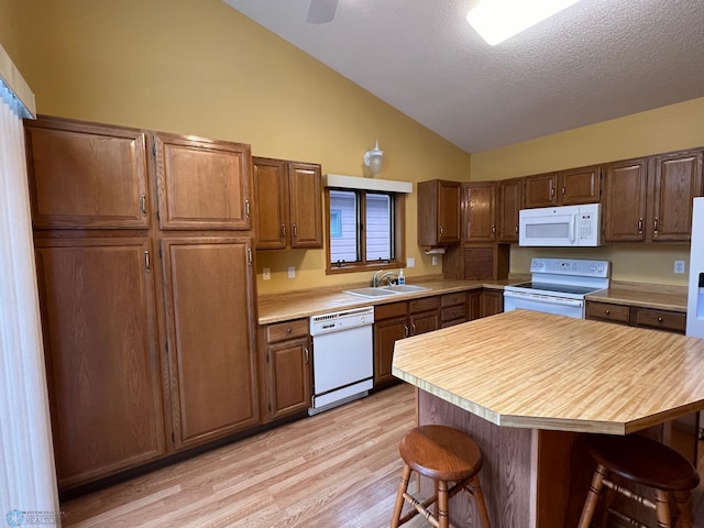
{"label": "dark round seat of the right-hand stool under the island", "polygon": [[587,440],[592,458],[614,474],[668,492],[694,490],[700,475],[684,457],[640,435],[594,436]]}

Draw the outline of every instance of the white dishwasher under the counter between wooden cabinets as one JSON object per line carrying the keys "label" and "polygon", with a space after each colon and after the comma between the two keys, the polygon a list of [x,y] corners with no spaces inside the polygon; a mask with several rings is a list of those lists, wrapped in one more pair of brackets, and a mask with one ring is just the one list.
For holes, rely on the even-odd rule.
{"label": "white dishwasher under the counter between wooden cabinets", "polygon": [[364,397],[374,377],[374,307],[312,316],[314,396],[309,415]]}

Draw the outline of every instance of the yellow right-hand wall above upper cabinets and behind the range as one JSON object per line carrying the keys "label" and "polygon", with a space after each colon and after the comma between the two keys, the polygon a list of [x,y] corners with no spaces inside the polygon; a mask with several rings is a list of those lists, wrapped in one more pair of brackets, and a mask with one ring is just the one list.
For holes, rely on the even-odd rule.
{"label": "yellow right-hand wall above upper cabinets and behind the range", "polygon": [[[472,155],[472,179],[504,179],[562,168],[704,146],[704,98],[573,129]],[[527,273],[532,256],[605,258],[616,280],[686,285],[674,261],[688,262],[685,244],[614,244],[595,250],[512,246],[510,271]]]}

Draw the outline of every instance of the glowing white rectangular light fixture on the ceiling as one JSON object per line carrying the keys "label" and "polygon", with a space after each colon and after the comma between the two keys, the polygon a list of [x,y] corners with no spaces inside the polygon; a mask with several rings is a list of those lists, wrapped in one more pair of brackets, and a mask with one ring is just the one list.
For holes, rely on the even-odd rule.
{"label": "glowing white rectangular light fixture on the ceiling", "polygon": [[466,21],[491,45],[504,42],[579,0],[482,0]]}

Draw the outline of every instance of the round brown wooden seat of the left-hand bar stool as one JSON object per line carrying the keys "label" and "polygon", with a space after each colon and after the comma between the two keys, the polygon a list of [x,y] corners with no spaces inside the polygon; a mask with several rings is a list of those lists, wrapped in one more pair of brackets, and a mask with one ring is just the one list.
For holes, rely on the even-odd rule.
{"label": "round brown wooden seat of the left-hand bar stool", "polygon": [[474,440],[447,426],[421,426],[404,436],[400,458],[414,471],[435,481],[462,481],[482,469]]}

